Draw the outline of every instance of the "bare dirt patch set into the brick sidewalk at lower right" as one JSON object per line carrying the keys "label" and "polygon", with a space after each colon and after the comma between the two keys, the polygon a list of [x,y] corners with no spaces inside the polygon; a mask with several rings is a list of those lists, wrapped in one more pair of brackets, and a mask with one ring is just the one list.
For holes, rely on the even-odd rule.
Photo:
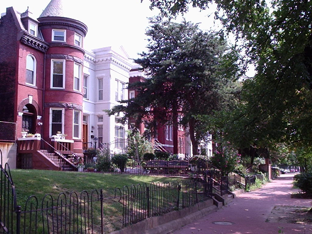
{"label": "bare dirt patch set into the brick sidewalk at lower right", "polygon": [[312,224],[311,207],[275,206],[266,222]]}

